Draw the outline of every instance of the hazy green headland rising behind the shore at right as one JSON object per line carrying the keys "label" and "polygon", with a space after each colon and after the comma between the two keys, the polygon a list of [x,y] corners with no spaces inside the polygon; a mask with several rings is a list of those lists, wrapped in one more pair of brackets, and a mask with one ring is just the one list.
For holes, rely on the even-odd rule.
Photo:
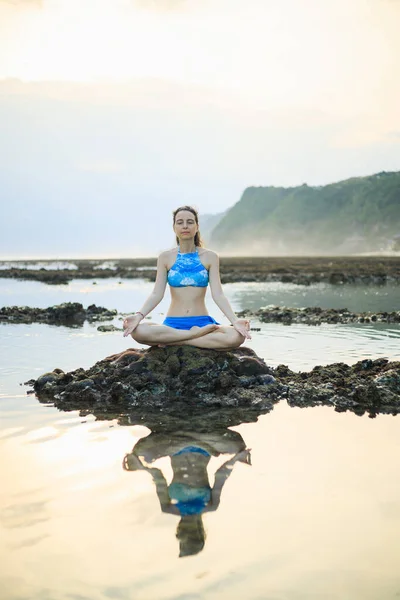
{"label": "hazy green headland rising behind the shore at right", "polygon": [[400,172],[325,186],[250,187],[211,234],[235,254],[389,250],[400,233]]}

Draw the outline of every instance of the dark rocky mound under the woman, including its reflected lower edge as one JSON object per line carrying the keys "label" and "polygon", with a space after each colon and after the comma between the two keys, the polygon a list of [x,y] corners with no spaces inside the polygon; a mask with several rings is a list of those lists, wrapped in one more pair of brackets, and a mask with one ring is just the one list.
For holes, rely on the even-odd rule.
{"label": "dark rocky mound under the woman, including its reflected lower edge", "polygon": [[[85,371],[54,369],[30,380],[40,402],[98,419],[143,424],[153,431],[210,429],[256,421],[285,394],[262,359],[190,346],[131,349]],[[268,394],[266,389],[269,388]]]}

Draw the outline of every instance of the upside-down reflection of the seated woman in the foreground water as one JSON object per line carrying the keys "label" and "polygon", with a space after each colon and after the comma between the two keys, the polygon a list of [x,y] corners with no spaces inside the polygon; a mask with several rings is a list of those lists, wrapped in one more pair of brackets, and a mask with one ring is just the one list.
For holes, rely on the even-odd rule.
{"label": "upside-down reflection of the seated woman in the foreground water", "polygon": [[[207,467],[211,456],[233,454],[217,469],[210,486]],[[173,478],[168,485],[161,469],[149,467],[169,456]],[[181,517],[176,537],[179,556],[200,552],[205,543],[202,515],[217,510],[222,488],[236,462],[250,465],[250,451],[242,436],[230,429],[212,433],[151,433],[141,438],[123,461],[127,471],[147,471],[153,478],[162,512]]]}

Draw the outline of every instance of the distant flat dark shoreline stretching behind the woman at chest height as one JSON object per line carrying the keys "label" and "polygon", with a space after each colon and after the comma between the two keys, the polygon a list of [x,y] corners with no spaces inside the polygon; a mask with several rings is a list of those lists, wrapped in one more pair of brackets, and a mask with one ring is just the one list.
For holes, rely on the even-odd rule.
{"label": "distant flat dark shoreline stretching behind the woman at chest height", "polygon": [[[51,265],[54,261],[41,261]],[[112,264],[112,267],[109,265]],[[13,263],[15,264],[15,263]],[[18,262],[16,261],[16,264]],[[39,281],[52,285],[73,279],[155,279],[155,258],[118,260],[73,260],[73,269],[34,269],[31,261],[0,269],[0,277]],[[6,262],[0,266],[7,267]],[[400,283],[400,257],[221,257],[222,283],[282,282],[297,285],[328,283],[333,285],[385,285]]]}

